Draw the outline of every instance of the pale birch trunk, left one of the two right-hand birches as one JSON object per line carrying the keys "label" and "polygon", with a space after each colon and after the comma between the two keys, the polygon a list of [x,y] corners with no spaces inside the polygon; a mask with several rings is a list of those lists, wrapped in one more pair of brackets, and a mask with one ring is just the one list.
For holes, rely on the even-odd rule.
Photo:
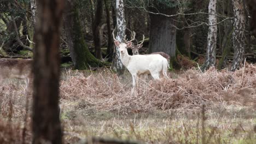
{"label": "pale birch trunk, left one of the two right-hand birches", "polygon": [[206,61],[201,70],[205,71],[216,63],[216,44],[217,44],[217,0],[210,0],[208,5],[209,30],[207,38]]}

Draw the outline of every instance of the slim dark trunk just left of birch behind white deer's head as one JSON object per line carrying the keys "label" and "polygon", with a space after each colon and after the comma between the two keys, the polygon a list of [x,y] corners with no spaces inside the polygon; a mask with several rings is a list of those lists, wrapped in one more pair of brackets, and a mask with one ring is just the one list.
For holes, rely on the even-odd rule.
{"label": "slim dark trunk just left of birch behind white deer's head", "polygon": [[[110,25],[110,13],[109,13],[109,4],[107,0],[104,0],[105,10],[106,10],[106,21],[107,21],[107,29],[108,29],[108,48],[107,48],[107,57],[108,61],[112,61],[113,49],[112,49],[112,34],[111,34],[111,25]],[[112,11],[114,13],[114,11]]]}

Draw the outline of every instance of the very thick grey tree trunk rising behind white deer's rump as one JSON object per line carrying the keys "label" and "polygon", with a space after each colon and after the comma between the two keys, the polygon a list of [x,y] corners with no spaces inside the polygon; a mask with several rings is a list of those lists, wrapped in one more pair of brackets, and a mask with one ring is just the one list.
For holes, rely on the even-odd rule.
{"label": "very thick grey tree trunk rising behind white deer's rump", "polygon": [[[171,14],[176,11],[174,8]],[[175,59],[176,51],[176,28],[173,17],[149,14],[150,17],[150,36],[149,36],[149,53],[165,52],[171,57],[170,67]]]}

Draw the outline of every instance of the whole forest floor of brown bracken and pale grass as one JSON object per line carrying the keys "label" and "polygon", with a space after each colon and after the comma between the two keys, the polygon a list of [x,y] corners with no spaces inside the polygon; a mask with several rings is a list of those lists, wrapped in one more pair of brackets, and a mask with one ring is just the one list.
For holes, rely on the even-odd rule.
{"label": "whole forest floor of brown bracken and pale grass", "polygon": [[[119,77],[108,69],[63,70],[63,141],[256,143],[256,65],[235,72],[192,68],[168,76],[160,81],[143,77],[132,91],[127,71]],[[11,82],[0,86],[1,143],[29,141],[32,135],[24,82]]]}

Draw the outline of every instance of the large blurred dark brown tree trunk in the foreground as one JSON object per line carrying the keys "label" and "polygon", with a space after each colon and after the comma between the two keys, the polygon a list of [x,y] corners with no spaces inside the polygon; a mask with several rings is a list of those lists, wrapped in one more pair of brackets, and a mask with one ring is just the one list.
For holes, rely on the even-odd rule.
{"label": "large blurred dark brown tree trunk in the foreground", "polygon": [[38,2],[34,49],[32,143],[62,143],[59,119],[61,0]]}

